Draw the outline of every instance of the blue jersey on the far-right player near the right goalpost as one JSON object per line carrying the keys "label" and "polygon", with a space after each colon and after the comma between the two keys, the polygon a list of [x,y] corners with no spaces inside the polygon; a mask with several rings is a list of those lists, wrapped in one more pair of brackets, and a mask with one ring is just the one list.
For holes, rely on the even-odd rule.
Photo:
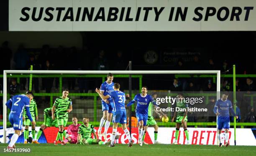
{"label": "blue jersey on the far-right player near the right goalpost", "polygon": [[218,108],[218,118],[220,117],[229,117],[229,111],[232,112],[233,115],[235,115],[235,112],[232,108],[232,103],[230,100],[222,101],[221,99],[216,101],[215,106],[214,106],[214,113],[217,113],[217,108]]}

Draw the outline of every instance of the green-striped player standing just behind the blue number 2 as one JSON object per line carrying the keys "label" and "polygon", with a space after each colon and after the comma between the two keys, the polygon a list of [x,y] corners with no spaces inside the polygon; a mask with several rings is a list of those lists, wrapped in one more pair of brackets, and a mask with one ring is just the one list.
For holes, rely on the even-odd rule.
{"label": "green-striped player standing just behind the blue number 2", "polygon": [[[35,99],[32,99],[30,101],[29,111],[31,113],[31,117],[33,118],[33,121],[37,121],[38,116],[37,116],[37,106],[36,106]],[[23,111],[23,120],[24,120],[24,125],[25,125],[25,130],[23,133],[24,134],[24,143],[28,143],[28,141],[27,141],[28,134],[29,134],[28,128],[29,128],[29,125],[32,125],[32,124],[31,124],[31,121],[28,119],[28,116],[26,115],[26,109],[24,109],[24,111]],[[32,136],[33,136],[32,143],[38,143],[36,141],[36,125],[32,125],[31,130],[32,130]]]}

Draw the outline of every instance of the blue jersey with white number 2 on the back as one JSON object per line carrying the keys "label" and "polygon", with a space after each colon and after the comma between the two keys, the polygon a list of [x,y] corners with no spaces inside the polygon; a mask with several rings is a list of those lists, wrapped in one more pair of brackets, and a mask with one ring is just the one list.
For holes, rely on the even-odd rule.
{"label": "blue jersey with white number 2 on the back", "polygon": [[20,118],[20,116],[22,116],[24,107],[26,106],[29,108],[30,99],[26,95],[21,94],[13,96],[13,98],[10,98],[10,100],[8,100],[7,103],[11,104],[10,113],[19,116]]}

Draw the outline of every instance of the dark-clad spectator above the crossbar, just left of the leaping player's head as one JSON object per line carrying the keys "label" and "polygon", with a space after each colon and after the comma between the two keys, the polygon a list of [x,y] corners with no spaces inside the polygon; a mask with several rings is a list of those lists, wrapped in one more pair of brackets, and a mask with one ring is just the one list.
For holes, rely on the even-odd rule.
{"label": "dark-clad spectator above the crossbar, just left of the leaping player's head", "polygon": [[108,60],[105,57],[105,51],[100,50],[98,58],[93,61],[94,70],[109,70]]}

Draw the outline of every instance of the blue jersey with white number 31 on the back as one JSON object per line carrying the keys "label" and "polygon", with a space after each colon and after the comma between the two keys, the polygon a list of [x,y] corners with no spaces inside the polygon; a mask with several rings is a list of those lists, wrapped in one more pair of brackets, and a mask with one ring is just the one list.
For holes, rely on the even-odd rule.
{"label": "blue jersey with white number 31 on the back", "polygon": [[112,91],[108,94],[113,99],[114,111],[125,111],[125,93],[122,91]]}

